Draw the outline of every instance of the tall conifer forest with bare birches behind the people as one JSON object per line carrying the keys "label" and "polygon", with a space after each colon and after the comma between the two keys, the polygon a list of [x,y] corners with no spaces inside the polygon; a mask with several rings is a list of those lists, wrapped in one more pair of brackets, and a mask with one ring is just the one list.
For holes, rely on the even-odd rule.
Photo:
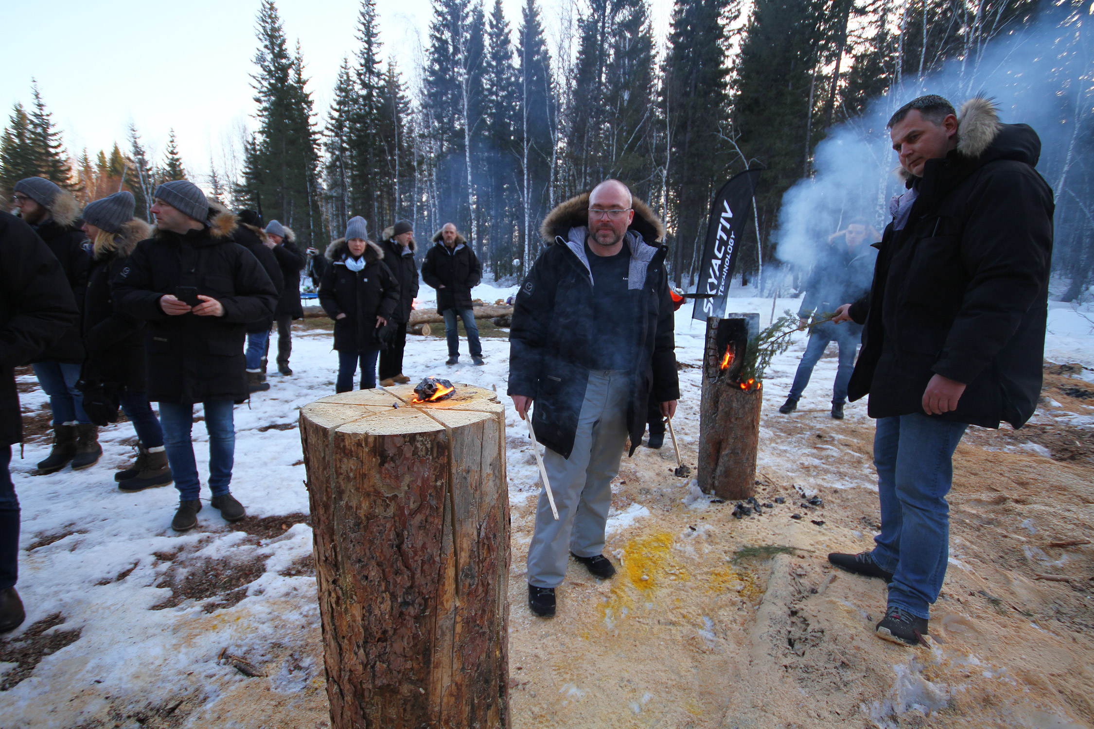
{"label": "tall conifer forest with bare birches behind the people", "polygon": [[[488,277],[502,279],[535,260],[554,205],[616,177],[665,221],[672,277],[687,286],[713,192],[761,167],[736,270],[770,290],[796,262],[779,250],[784,196],[836,164],[840,140],[870,141],[870,179],[881,179],[896,165],[884,129],[893,110],[922,93],[959,106],[988,90],[1005,121],[1027,121],[1041,136],[1061,295],[1094,284],[1089,1],[676,0],[663,36],[644,0],[556,1],[568,4],[549,9],[563,19],[558,28],[542,0],[526,0],[519,17],[500,0],[433,0],[420,63],[399,68],[373,0],[362,0],[334,102],[316,108],[291,28],[275,0],[260,0],[256,111],[235,160],[183,160],[174,132],[152,155],[136,127],[110,150],[66,149],[48,89],[35,85],[3,129],[0,192],[31,175],[81,202],[125,187],[150,216],[158,183],[194,175],[229,207],[291,225],[317,248],[353,215],[373,235],[409,219],[419,239],[454,222]],[[881,230],[895,189],[886,179],[840,220],[864,215]]]}

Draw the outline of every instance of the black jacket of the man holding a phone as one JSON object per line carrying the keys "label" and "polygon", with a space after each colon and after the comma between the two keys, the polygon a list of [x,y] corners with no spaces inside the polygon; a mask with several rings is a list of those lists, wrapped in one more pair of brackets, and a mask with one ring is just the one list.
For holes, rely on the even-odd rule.
{"label": "black jacket of the man holding a phone", "polygon": [[[246,248],[232,242],[235,216],[218,213],[211,227],[178,235],[156,231],[138,244],[114,280],[124,314],[144,319],[148,397],[153,402],[246,400],[243,343],[247,324],[274,314],[277,290]],[[168,316],[164,294],[197,286],[224,316]]]}

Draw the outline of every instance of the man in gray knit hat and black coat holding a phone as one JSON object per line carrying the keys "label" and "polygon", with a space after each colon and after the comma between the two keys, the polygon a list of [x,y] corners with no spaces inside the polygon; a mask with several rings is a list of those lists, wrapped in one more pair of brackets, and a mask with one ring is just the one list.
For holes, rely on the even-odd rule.
{"label": "man in gray knit hat and black coat holding a phone", "polygon": [[197,526],[201,484],[190,430],[202,403],[209,433],[212,506],[230,521],[245,516],[232,496],[232,405],[248,397],[243,341],[269,317],[277,289],[261,264],[232,240],[235,216],[211,209],[193,183],[155,189],[155,234],[142,240],[114,280],[118,310],[143,319],[148,397],[160,403],[167,460],[181,496],[172,528]]}

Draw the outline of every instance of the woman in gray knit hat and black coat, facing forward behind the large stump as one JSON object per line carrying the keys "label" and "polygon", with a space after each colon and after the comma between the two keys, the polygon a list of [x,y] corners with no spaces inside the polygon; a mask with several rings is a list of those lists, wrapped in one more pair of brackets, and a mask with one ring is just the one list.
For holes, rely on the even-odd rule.
{"label": "woman in gray knit hat and black coat, facing forward behind the large stump", "polygon": [[346,235],[329,246],[330,263],[319,282],[319,304],[335,322],[338,351],[336,390],[353,389],[353,375],[361,365],[361,389],[376,386],[376,360],[381,327],[395,316],[399,282],[384,263],[384,250],[369,240],[368,222],[350,219]]}

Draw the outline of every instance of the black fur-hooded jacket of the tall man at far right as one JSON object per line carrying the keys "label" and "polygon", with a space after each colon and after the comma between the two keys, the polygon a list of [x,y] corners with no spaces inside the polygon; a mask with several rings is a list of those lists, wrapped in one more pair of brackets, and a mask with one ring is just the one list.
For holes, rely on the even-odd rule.
{"label": "black fur-hooded jacket of the tall man at far right", "polygon": [[961,141],[929,160],[901,231],[885,228],[851,376],[872,418],[922,413],[934,374],[967,385],[941,420],[1021,427],[1040,397],[1052,255],[1052,190],[1034,169],[1040,140],[1001,125],[993,105],[962,107]]}

